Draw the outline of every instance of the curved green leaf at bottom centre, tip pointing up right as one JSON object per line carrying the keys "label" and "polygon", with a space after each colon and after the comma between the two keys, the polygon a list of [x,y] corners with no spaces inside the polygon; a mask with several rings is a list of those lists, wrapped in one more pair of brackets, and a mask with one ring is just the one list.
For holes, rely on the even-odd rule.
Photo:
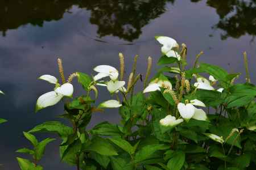
{"label": "curved green leaf at bottom centre, tip pointing up right", "polygon": [[156,144],[156,145],[147,145],[141,148],[136,155],[135,155],[135,163],[142,162],[143,160],[146,160],[150,158],[152,154],[154,154],[155,151],[158,150],[166,150],[167,148],[170,148],[170,146],[163,145],[163,144]]}

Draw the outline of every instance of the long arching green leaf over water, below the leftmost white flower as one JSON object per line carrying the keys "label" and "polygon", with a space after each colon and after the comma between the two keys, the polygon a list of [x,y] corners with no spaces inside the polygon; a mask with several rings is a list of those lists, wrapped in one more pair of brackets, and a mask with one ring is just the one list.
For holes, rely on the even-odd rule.
{"label": "long arching green leaf over water, below the leftmost white flower", "polygon": [[35,126],[35,128],[28,131],[28,133],[34,133],[34,132],[57,133],[60,135],[61,138],[64,138],[64,137],[68,137],[69,134],[72,134],[73,129],[70,128],[69,126],[65,126],[64,124],[61,124],[61,122],[50,121],[50,122],[44,122],[43,124]]}

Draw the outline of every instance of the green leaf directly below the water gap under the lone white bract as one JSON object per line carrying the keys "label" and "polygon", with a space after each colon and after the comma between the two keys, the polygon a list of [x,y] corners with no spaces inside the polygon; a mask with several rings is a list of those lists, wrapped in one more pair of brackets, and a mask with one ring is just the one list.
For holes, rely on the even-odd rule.
{"label": "green leaf directly below the water gap under the lone white bract", "polygon": [[110,124],[109,122],[101,122],[90,131],[92,134],[104,136],[119,136],[122,134],[117,125]]}

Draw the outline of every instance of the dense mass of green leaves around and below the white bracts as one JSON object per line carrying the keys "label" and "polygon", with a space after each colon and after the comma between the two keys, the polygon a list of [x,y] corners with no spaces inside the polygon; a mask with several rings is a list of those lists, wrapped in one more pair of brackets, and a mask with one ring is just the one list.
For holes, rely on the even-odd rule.
{"label": "dense mass of green leaves around and below the white bracts", "polygon": [[[91,90],[97,91],[91,88],[97,82],[87,74],[77,73],[78,82],[87,95],[65,101],[64,114],[60,116],[69,120],[72,127],[52,121],[24,133],[34,150],[22,148],[18,152],[33,155],[34,162],[18,158],[20,168],[43,169],[36,163],[42,158],[46,144],[53,139],[39,143],[32,133],[50,132],[63,140],[59,146],[61,160],[77,169],[255,169],[256,87],[249,79],[246,83],[234,83],[240,74],[198,63],[199,56],[194,67],[185,69],[186,50],[185,46],[175,50],[180,59],[166,54],[159,59],[158,64],[164,67],[152,81],[160,79],[170,82],[172,87],[160,86],[160,90],[148,94],[134,94],[133,90],[119,92],[122,120],[118,125],[100,122],[86,129],[92,114],[101,114],[95,113],[101,108],[95,106],[94,95],[90,96]],[[216,81],[210,86],[222,90],[192,86],[195,77],[202,78],[199,74],[212,75]],[[206,117],[186,120],[182,116],[178,103],[193,99],[205,104]],[[160,124],[168,115],[183,117],[184,121],[175,125]]]}

